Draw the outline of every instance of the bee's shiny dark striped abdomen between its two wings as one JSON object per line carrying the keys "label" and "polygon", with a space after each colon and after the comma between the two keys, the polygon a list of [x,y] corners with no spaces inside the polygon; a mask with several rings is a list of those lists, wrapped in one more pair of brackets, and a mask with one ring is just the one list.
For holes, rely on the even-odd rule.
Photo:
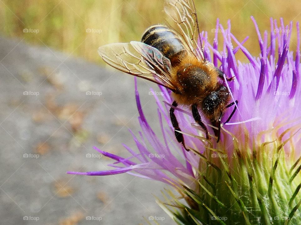
{"label": "bee's shiny dark striped abdomen between its two wings", "polygon": [[141,42],[158,49],[165,57],[169,58],[172,66],[176,66],[187,54],[176,33],[163,25],[149,27],[144,32]]}

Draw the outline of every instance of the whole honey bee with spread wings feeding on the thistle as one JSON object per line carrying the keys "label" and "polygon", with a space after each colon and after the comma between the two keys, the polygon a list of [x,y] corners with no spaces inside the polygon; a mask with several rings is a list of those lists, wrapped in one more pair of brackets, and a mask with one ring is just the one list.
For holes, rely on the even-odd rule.
{"label": "whole honey bee with spread wings feeding on the thistle", "polygon": [[[185,146],[174,113],[178,104],[191,107],[194,120],[210,139],[200,109],[215,127],[214,134],[219,142],[224,111],[235,105],[225,122],[228,123],[238,102],[229,104],[231,97],[224,83],[224,72],[204,56],[193,0],[166,0],[164,11],[173,24],[170,27],[151,26],[142,35],[141,42],[104,45],[99,47],[98,53],[112,67],[172,91],[174,102],[170,108],[170,118],[177,141],[187,151],[189,149]],[[233,78],[226,79],[231,81]]]}

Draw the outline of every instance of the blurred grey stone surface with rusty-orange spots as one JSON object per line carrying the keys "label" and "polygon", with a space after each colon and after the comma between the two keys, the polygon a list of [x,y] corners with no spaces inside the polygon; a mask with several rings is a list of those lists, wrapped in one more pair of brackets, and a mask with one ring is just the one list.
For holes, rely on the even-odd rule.
{"label": "blurred grey stone surface with rusty-orange spots", "polygon": [[[66,174],[109,169],[110,160],[86,157],[97,153],[93,146],[123,156],[122,143],[135,149],[128,131],[139,131],[133,77],[21,40],[0,37],[0,49],[0,224],[146,224],[143,216],[172,224],[152,195],[161,197],[164,184]],[[146,117],[160,132],[148,94],[156,85],[138,84]],[[72,129],[74,115],[82,123]]]}

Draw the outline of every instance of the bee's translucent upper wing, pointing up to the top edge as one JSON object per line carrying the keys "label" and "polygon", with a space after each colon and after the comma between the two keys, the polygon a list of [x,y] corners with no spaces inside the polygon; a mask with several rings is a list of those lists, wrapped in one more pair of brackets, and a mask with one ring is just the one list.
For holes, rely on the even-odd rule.
{"label": "bee's translucent upper wing, pointing up to the top edge", "polygon": [[174,28],[182,35],[184,44],[198,60],[205,60],[201,46],[198,45],[200,31],[198,17],[193,0],[166,0],[165,13],[174,23]]}

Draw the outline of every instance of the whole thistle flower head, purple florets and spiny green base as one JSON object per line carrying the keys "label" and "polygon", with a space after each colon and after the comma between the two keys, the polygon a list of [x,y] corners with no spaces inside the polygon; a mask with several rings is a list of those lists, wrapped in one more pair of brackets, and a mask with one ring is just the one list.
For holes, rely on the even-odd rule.
{"label": "whole thistle flower head, purple florets and spiny green base", "polygon": [[[158,105],[163,141],[153,132],[141,108],[135,81],[136,103],[142,132],[133,133],[138,153],[125,146],[129,158],[121,158],[95,148],[114,159],[114,169],[96,172],[68,172],[91,176],[130,173],[138,177],[171,184],[187,204],[168,191],[166,202],[159,205],[178,224],[301,224],[301,176],[299,171],[301,144],[300,30],[297,23],[297,49],[290,51],[293,23],[284,26],[271,19],[271,31],[258,34],[260,54],[252,56],[230,32],[230,21],[224,29],[217,20],[216,31],[222,29],[222,51],[218,50],[218,32],[213,44],[207,32],[201,33],[205,57],[220,67],[237,111],[231,123],[223,124],[221,141],[204,138],[192,115],[176,108],[184,133],[187,152],[174,138],[168,116],[172,98],[164,93]],[[237,47],[233,47],[233,44]],[[236,61],[242,51],[247,63]],[[224,122],[231,114],[227,110]],[[164,122],[163,122],[164,121]],[[164,125],[165,124],[165,125]],[[207,121],[207,126],[209,125]],[[300,158],[298,158],[300,157]]]}

